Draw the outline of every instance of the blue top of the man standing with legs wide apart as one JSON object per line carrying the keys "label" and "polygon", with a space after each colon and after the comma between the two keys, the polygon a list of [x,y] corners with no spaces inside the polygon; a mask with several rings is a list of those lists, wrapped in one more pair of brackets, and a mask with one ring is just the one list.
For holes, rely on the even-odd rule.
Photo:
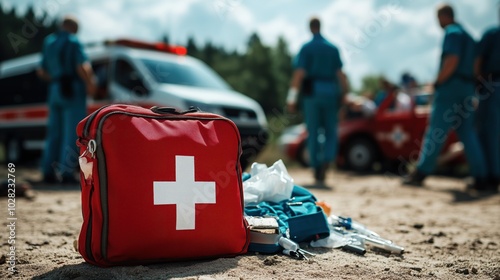
{"label": "blue top of the man standing with legs wide apart", "polygon": [[440,68],[443,66],[445,56],[457,55],[459,58],[457,69],[450,80],[470,79],[472,81],[474,78],[475,52],[476,43],[474,39],[460,24],[454,23],[446,26]]}

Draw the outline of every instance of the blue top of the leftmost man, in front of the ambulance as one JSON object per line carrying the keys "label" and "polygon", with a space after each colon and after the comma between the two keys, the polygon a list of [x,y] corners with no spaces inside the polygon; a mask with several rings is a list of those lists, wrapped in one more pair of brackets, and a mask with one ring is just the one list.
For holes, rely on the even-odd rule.
{"label": "blue top of the leftmost man, in front of the ambulance", "polygon": [[[65,45],[65,46],[64,46]],[[64,65],[61,67],[61,49],[65,47]],[[88,61],[83,45],[74,34],[59,31],[45,38],[42,50],[42,68],[53,80],[62,75],[77,76],[76,67]]]}

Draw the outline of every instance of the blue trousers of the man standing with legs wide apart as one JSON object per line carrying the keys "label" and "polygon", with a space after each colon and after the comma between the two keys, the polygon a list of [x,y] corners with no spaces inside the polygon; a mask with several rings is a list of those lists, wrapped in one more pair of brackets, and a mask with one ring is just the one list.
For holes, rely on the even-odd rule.
{"label": "blue trousers of the man standing with legs wide apart", "polygon": [[420,149],[418,171],[426,175],[434,171],[446,135],[454,129],[464,145],[470,174],[486,178],[484,154],[474,129],[473,97],[474,84],[456,78],[436,89],[429,126]]}

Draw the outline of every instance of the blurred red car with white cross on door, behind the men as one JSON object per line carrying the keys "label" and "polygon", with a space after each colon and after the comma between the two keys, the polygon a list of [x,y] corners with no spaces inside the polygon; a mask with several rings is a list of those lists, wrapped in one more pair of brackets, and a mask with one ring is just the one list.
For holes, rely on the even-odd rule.
{"label": "blurred red car with white cross on door, behind the men", "polygon": [[[397,96],[389,94],[369,117],[347,117],[339,123],[338,167],[368,171],[375,162],[399,164],[418,159],[432,96],[418,94],[413,100],[407,96],[406,108],[396,109]],[[280,138],[283,152],[304,166],[309,162],[306,139],[304,124],[288,128]],[[439,162],[457,162],[461,158],[461,143],[452,132]]]}

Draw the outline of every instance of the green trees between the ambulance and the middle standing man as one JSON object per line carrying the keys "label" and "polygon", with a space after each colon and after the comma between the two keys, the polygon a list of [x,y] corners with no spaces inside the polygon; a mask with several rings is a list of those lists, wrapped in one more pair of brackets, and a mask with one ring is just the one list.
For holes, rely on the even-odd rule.
{"label": "green trees between the ambulance and the middle standing man", "polygon": [[211,42],[199,47],[193,38],[188,38],[186,48],[189,55],[207,63],[236,91],[259,102],[266,113],[284,108],[292,58],[283,38],[275,47],[269,47],[254,33],[243,54],[228,52]]}

